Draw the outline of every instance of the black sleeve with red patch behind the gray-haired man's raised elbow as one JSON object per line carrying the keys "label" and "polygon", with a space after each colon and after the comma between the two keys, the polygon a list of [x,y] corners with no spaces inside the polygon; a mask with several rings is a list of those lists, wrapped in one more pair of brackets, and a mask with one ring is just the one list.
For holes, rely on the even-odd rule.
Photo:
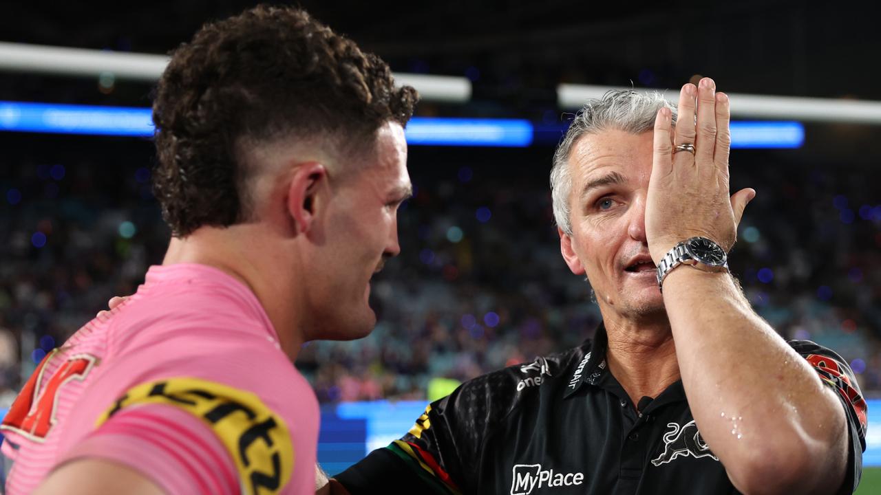
{"label": "black sleeve with red patch behind the gray-haired man's raised elbow", "polygon": [[848,362],[835,351],[807,340],[789,341],[813,366],[826,386],[835,391],[848,421],[848,470],[839,493],[853,493],[862,477],[862,453],[866,450],[868,405]]}

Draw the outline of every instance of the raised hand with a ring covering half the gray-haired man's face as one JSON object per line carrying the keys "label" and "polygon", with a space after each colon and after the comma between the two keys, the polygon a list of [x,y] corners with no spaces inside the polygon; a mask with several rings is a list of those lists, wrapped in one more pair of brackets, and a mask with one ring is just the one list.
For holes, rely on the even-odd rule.
{"label": "raised hand with a ring covering half the gray-haired man's face", "polygon": [[737,224],[756,191],[744,188],[729,197],[729,121],[728,95],[715,92],[710,78],[682,87],[675,135],[670,109],[658,111],[646,200],[655,263],[690,237],[714,240],[726,251],[734,246]]}

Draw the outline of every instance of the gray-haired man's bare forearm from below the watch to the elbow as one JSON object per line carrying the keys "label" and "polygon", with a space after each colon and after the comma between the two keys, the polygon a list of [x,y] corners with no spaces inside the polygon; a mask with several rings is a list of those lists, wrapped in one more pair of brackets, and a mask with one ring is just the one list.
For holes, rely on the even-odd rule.
{"label": "gray-haired man's bare forearm from below the watch to the elbow", "polygon": [[803,493],[840,483],[844,410],[733,279],[682,267],[664,280],[663,298],[692,415],[732,481],[802,484]]}

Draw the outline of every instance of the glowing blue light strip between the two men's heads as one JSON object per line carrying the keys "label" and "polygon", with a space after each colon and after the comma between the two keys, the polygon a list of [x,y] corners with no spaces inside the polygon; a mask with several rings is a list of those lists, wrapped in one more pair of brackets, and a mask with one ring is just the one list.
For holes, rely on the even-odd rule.
{"label": "glowing blue light strip between the two men's heads", "polygon": [[532,144],[532,124],[516,119],[413,117],[407,123],[408,144],[429,146],[509,146]]}

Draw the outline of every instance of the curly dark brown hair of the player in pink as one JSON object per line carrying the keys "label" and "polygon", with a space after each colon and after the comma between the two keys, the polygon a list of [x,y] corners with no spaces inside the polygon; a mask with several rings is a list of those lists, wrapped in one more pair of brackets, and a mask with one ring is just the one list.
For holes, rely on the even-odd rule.
{"label": "curly dark brown hair of the player in pink", "polygon": [[292,7],[259,5],[203,26],[172,54],[153,102],[153,192],[175,237],[249,215],[241,143],[372,143],[418,95],[389,66]]}

